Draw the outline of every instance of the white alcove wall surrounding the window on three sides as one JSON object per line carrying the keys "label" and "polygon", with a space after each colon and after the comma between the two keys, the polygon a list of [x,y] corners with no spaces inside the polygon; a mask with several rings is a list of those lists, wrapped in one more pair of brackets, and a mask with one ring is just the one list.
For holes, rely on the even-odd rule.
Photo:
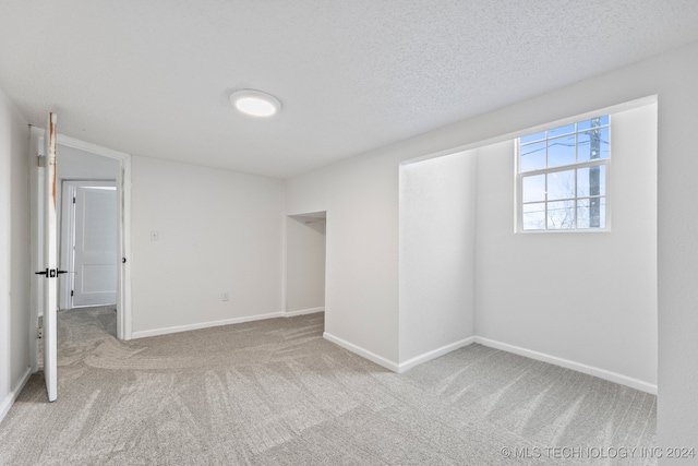
{"label": "white alcove wall surrounding the window on three sides", "polygon": [[657,106],[613,115],[611,131],[606,234],[514,234],[515,143],[478,151],[476,334],[652,391]]}

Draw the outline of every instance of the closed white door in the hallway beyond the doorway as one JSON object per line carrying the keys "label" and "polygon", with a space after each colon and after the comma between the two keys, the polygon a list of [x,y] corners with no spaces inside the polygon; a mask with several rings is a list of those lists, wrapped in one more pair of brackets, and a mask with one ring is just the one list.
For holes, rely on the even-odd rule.
{"label": "closed white door in the hallway beyond the doorway", "polygon": [[[89,184],[89,186],[86,186]],[[73,306],[117,302],[117,189],[113,182],[75,188]]]}

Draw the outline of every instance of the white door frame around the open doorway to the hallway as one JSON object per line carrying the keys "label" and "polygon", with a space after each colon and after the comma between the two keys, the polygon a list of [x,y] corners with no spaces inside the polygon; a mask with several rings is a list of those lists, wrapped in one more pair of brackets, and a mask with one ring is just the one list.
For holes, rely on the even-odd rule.
{"label": "white door frame around the open doorway to the hallway", "polygon": [[[44,240],[40,231],[43,222],[43,201],[39,193],[43,190],[41,179],[44,170],[38,167],[37,156],[41,154],[44,140],[44,129],[32,127],[29,138],[29,158],[32,174],[29,177],[29,202],[32,207],[31,235],[32,235],[32,270],[39,270],[41,254],[44,251]],[[117,338],[131,339],[132,334],[132,310],[131,310],[131,154],[127,154],[97,144],[81,141],[63,134],[58,134],[58,144],[85,151],[103,157],[119,160],[120,167],[117,170],[117,199],[119,211],[119,256],[127,260],[121,263],[117,274]],[[59,160],[60,164],[60,154]],[[38,277],[38,275],[37,275]],[[38,278],[32,280],[32,299],[29,313],[29,362],[32,371],[38,371],[38,318],[41,303],[38,296],[41,296],[43,282]]]}

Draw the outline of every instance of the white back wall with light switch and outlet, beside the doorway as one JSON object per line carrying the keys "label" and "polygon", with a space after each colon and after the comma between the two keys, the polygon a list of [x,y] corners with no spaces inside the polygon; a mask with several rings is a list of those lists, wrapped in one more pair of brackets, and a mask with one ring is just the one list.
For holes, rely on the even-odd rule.
{"label": "white back wall with light switch and outlet, beside the doorway", "polygon": [[282,312],[282,181],[134,156],[131,220],[134,337]]}

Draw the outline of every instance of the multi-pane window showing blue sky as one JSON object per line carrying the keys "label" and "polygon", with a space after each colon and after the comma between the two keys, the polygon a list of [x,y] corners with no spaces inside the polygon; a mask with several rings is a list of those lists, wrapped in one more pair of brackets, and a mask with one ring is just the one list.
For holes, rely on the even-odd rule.
{"label": "multi-pane window showing blue sky", "polygon": [[604,230],[609,116],[519,138],[517,230]]}

